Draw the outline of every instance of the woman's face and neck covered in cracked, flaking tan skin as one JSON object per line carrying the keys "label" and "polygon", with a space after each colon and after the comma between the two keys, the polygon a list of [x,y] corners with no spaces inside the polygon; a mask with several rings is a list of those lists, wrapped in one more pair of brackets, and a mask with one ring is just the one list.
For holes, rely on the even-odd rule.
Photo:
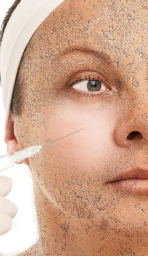
{"label": "woman's face and neck covered in cracked, flaking tan skin", "polygon": [[[40,241],[19,255],[148,256],[148,192],[107,183],[148,168],[148,0],[65,0],[31,44],[18,143],[85,130],[28,159]],[[79,50],[58,58],[68,47]],[[100,90],[87,89],[92,80]]]}

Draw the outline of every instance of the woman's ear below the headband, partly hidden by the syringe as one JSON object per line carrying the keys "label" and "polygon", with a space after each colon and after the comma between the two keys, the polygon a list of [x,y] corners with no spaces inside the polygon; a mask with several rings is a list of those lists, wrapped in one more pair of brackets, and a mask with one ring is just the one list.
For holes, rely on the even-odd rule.
{"label": "woman's ear below the headband, partly hidden by the syringe", "polygon": [[[19,138],[19,134],[17,134],[18,131],[15,128],[16,128],[16,124],[14,126],[14,121],[11,117],[11,113],[9,112],[9,119],[6,126],[4,140],[5,140],[5,143],[7,144],[7,153],[10,155],[14,154],[14,152],[17,152],[23,149],[21,142],[17,139]],[[25,163],[26,165],[29,166],[28,159],[22,160],[20,163],[17,163],[17,164],[22,164],[22,163]]]}

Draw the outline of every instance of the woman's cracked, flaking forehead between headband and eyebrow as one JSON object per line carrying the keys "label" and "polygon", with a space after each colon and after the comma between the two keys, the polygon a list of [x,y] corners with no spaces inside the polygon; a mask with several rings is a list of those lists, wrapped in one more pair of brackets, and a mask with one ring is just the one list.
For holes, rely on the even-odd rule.
{"label": "woman's cracked, flaking forehead between headband and eyebrow", "polygon": [[39,26],[36,42],[46,41],[54,51],[84,40],[107,49],[145,47],[147,13],[148,7],[134,0],[65,0]]}

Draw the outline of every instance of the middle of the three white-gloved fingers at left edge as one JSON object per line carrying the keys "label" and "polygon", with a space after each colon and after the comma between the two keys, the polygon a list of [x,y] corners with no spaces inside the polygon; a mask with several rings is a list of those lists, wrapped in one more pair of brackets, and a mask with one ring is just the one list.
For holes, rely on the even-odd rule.
{"label": "middle of the three white-gloved fingers at left edge", "polygon": [[12,219],[17,214],[18,208],[16,204],[12,203],[7,198],[0,196],[0,214],[9,215]]}

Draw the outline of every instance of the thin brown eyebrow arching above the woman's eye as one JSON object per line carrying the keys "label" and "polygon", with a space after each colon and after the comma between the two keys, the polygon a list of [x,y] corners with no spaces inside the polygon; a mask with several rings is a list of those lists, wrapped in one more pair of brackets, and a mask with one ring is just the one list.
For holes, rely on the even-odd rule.
{"label": "thin brown eyebrow arching above the woman's eye", "polygon": [[[87,52],[91,55],[95,55],[97,58],[99,58],[104,64],[107,64],[108,66],[113,66],[114,65],[114,60],[111,58],[111,56],[109,56],[106,52],[104,51],[100,51],[100,50],[94,50],[94,49],[90,49],[89,47],[84,48],[84,47],[69,47],[67,49],[65,49],[63,52],[61,52],[59,55],[56,56],[56,58],[54,59],[54,61],[58,60],[59,58],[61,58],[62,56],[64,56],[67,53],[71,53],[71,52]],[[54,63],[54,61],[52,62],[52,64]]]}

